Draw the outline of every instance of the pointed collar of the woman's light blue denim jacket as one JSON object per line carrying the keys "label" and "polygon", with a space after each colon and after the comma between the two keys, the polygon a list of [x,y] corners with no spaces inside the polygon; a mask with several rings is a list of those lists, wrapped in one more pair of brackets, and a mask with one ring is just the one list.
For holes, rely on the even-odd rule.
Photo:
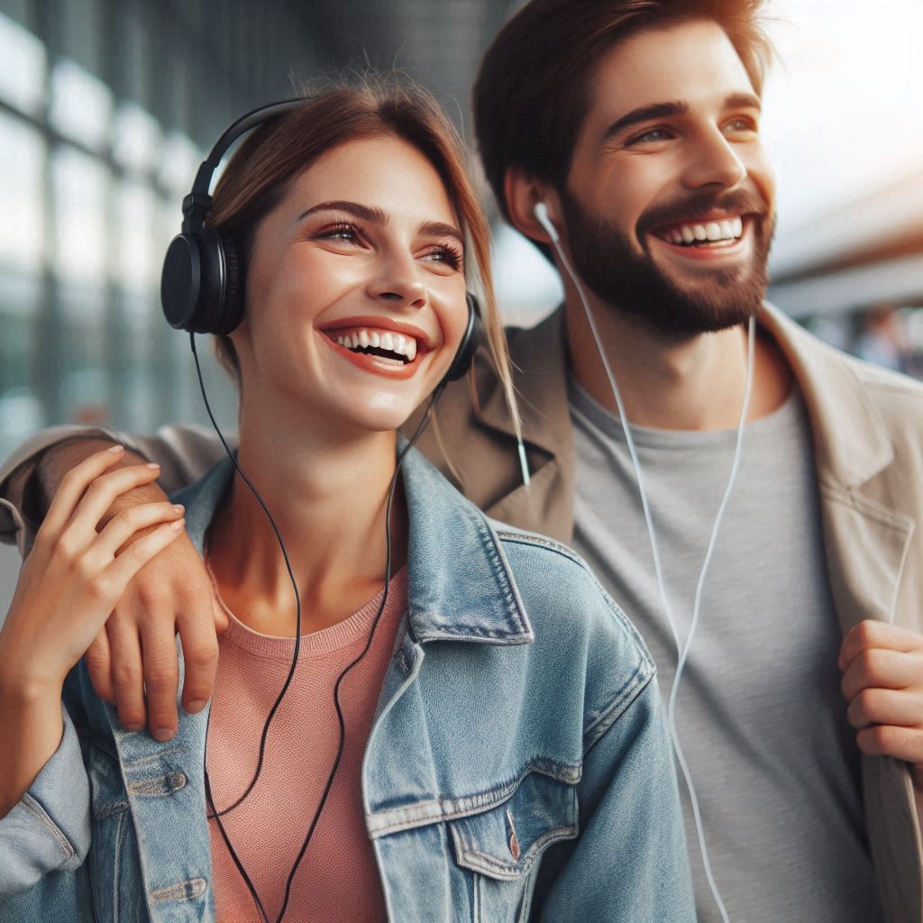
{"label": "pointed collar of the woman's light blue denim jacket", "polygon": [[[405,440],[401,439],[402,448]],[[408,617],[416,641],[528,644],[532,626],[497,535],[480,509],[416,450],[402,466],[410,523]],[[186,533],[203,553],[205,533],[234,465],[219,462],[174,500],[186,505]],[[464,561],[464,567],[458,566]]]}

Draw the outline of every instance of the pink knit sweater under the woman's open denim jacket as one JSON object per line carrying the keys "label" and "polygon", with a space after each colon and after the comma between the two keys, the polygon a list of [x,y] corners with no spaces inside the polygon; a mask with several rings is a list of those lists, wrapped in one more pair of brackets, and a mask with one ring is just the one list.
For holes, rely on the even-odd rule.
{"label": "pink knit sweater under the woman's open denim jacket", "polygon": [[[353,616],[302,637],[292,684],[270,725],[258,783],[243,804],[222,815],[234,851],[271,921],[279,916],[285,883],[336,757],[334,684],[343,667],[362,653],[380,602],[379,593]],[[371,649],[340,686],[346,725],[342,761],[295,872],[286,921],[385,919],[381,881],[363,819],[361,772],[378,692],[406,608],[407,576],[402,570],[391,580],[388,605]],[[209,730],[209,778],[219,810],[240,797],[253,777],[259,736],[294,653],[294,639],[258,634],[229,615],[231,627],[219,641]],[[213,819],[210,832],[219,923],[259,923],[256,905]]]}

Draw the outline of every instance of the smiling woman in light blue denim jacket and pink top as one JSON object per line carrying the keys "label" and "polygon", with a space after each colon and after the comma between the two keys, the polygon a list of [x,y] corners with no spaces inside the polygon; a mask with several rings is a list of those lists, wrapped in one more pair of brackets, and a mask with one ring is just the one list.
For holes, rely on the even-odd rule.
{"label": "smiling woman in light blue denim jacket and pink top", "polygon": [[[566,548],[487,521],[413,450],[397,476],[466,277],[509,387],[486,223],[436,103],[306,100],[241,145],[208,223],[242,262],[220,349],[274,522],[232,460],[99,531],[156,470],[110,450],[68,476],[0,632],[0,916],[692,920],[638,635]],[[159,743],[78,661],[184,514],[232,626],[210,713]]]}

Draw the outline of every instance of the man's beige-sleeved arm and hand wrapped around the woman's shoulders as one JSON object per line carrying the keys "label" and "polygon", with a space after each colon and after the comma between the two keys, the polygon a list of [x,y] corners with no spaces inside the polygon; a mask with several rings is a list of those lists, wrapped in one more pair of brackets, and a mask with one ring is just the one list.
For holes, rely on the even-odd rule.
{"label": "man's beige-sleeved arm and hand wrapped around the woman's shoulders", "polygon": [[[107,444],[121,442],[134,450],[126,451],[126,464],[153,461],[162,468],[157,484],[120,497],[108,511],[107,521],[120,509],[165,499],[164,487],[172,492],[191,483],[223,452],[218,439],[200,429],[167,428],[157,437],[123,436],[105,430],[57,427],[15,452],[0,469],[7,540],[15,535],[20,549],[28,551],[34,530],[48,509],[48,498],[54,497],[61,478]],[[102,698],[115,701],[126,727],[140,729],[147,723],[158,737],[172,737],[177,726],[179,682],[175,634],[179,632],[186,665],[183,705],[186,711],[198,712],[210,699],[214,683],[215,629],[226,625],[227,618],[214,601],[201,558],[182,535],[139,571],[115,606],[106,629],[90,645],[86,663],[93,687]]]}

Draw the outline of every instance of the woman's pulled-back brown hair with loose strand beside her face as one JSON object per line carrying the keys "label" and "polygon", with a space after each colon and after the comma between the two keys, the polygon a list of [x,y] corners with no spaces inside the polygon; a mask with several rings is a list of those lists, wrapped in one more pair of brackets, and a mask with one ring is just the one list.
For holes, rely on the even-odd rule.
{"label": "woman's pulled-back brown hair with loose strand beside her face", "polygon": [[[468,287],[479,295],[490,358],[519,432],[506,336],[491,278],[489,226],[465,171],[462,141],[426,90],[398,75],[366,76],[359,83],[336,83],[306,95],[303,106],[259,126],[234,152],[215,187],[208,225],[234,240],[246,286],[246,262],[258,223],[282,200],[289,181],[332,148],[381,135],[401,138],[420,150],[446,187],[466,238]],[[216,348],[239,384],[234,344],[219,337]]]}

